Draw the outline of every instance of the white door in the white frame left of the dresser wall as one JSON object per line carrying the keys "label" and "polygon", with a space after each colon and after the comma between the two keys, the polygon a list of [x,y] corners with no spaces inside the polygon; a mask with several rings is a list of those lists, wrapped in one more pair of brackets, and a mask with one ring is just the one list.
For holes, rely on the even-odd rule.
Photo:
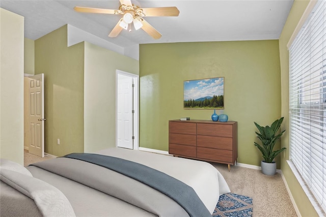
{"label": "white door in the white frame left of the dresser wall", "polygon": [[133,78],[117,74],[117,146],[133,149]]}

